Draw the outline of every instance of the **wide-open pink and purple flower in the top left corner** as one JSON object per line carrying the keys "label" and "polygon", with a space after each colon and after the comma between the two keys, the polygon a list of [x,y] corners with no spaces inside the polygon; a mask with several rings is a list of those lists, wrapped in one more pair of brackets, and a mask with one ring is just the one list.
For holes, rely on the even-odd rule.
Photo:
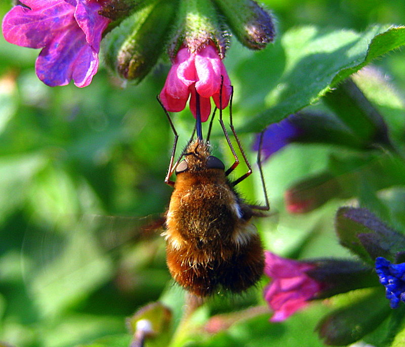
{"label": "wide-open pink and purple flower in the top left corner", "polygon": [[95,0],[22,0],[3,19],[12,44],[42,48],[36,74],[50,86],[89,85],[98,69],[101,34],[110,20]]}

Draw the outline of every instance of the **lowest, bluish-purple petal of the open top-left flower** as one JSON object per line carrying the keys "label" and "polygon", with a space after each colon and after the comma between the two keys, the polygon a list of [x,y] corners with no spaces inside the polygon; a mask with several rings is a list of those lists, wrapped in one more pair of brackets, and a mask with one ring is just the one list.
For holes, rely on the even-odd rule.
{"label": "lowest, bluish-purple petal of the open top-left flower", "polygon": [[78,87],[89,85],[98,68],[98,55],[87,44],[79,27],[57,35],[39,54],[36,74],[50,86],[66,85],[71,79]]}

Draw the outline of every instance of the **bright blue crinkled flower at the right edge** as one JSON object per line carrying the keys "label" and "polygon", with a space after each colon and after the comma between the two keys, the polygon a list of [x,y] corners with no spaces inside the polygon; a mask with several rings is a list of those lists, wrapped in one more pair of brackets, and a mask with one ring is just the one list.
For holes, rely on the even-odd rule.
{"label": "bright blue crinkled flower at the right edge", "polygon": [[385,287],[385,296],[391,309],[396,309],[399,301],[405,302],[405,263],[391,264],[379,256],[376,259],[376,272],[380,283]]}

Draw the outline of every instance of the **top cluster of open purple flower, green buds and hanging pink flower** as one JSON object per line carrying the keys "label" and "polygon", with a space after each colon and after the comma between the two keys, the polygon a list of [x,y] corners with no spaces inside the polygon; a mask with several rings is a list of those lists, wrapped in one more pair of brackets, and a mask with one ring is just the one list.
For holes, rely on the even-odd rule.
{"label": "top cluster of open purple flower, green buds and hanging pink flower", "polygon": [[173,66],[161,102],[178,112],[191,95],[191,112],[196,116],[199,102],[205,121],[210,98],[225,108],[232,92],[222,62],[229,44],[224,20],[250,49],[262,49],[274,38],[272,17],[252,0],[22,0],[3,19],[3,34],[12,44],[42,49],[36,74],[50,86],[70,80],[79,87],[89,85],[98,69],[103,35],[106,65],[135,81],[168,47]]}

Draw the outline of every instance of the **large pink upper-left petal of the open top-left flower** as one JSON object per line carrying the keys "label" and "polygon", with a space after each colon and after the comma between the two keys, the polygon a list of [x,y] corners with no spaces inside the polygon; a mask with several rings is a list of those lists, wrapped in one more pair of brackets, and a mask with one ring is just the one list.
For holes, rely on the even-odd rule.
{"label": "large pink upper-left petal of the open top-left flower", "polygon": [[3,18],[3,35],[12,44],[43,48],[56,31],[66,31],[74,23],[74,7],[64,0],[25,0],[22,6],[13,7]]}

